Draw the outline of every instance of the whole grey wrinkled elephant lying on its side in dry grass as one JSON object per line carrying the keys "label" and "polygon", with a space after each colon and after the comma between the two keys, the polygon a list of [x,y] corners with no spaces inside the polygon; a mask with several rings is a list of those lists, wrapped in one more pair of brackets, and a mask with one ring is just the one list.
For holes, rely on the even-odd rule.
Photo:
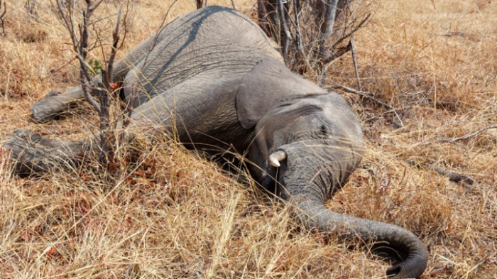
{"label": "whole grey wrinkled elephant lying on its side in dry grass", "polygon": [[[290,72],[266,35],[243,14],[218,6],[197,10],[170,23],[114,67],[124,96],[131,98],[133,91],[139,96],[133,101],[130,133],[154,125],[173,133],[175,126],[180,141],[196,148],[234,147],[251,162],[254,180],[301,209],[297,219],[308,228],[393,249],[399,261],[387,271],[392,278],[417,278],[425,270],[427,250],[410,231],[323,206],[359,165],[364,151],[359,119],[338,94]],[[82,97],[74,87],[40,100],[33,117],[46,121]],[[26,131],[16,136],[4,148],[18,155],[18,165],[31,171],[48,168],[53,162],[40,150],[61,158],[53,141],[44,143]],[[27,144],[18,144],[22,141]],[[66,162],[74,162],[72,154],[82,146],[62,143],[62,150]],[[275,151],[287,155],[279,168],[268,161]]]}

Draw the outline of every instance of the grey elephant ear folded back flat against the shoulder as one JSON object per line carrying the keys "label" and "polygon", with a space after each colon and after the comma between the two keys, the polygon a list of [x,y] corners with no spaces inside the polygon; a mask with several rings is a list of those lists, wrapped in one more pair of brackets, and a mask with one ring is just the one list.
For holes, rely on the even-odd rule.
{"label": "grey elephant ear folded back flat against the shoulder", "polygon": [[253,128],[271,109],[315,94],[328,92],[278,60],[262,60],[241,81],[236,92],[236,114],[241,126]]}

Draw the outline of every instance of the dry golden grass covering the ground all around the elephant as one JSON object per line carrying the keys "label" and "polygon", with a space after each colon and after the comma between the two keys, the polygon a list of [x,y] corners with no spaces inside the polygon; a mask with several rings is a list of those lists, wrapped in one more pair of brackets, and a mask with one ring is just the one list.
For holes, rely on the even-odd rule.
{"label": "dry golden grass covering the ground all around the elephant", "polygon": [[[125,49],[160,26],[170,2],[134,2]],[[234,2],[250,13],[253,1]],[[75,84],[77,71],[75,63],[62,67],[72,54],[47,1],[38,19],[23,4],[7,3],[0,38],[0,144],[21,127],[81,136],[91,126],[79,118],[28,121],[31,104]],[[180,0],[168,21],[194,5]],[[496,278],[497,131],[437,141],[497,124],[495,14],[490,0],[435,1],[435,8],[383,0],[355,36],[364,89],[395,106],[403,126],[374,102],[345,94],[363,120],[369,170],[357,170],[328,206],[418,234],[430,249],[424,278]],[[330,82],[354,86],[351,64],[350,55],[334,62]],[[383,278],[386,263],[295,229],[282,204],[181,146],[136,144],[137,165],[126,163],[115,180],[92,170],[21,179],[0,158],[0,277]],[[433,163],[476,183],[449,182],[428,169]]]}

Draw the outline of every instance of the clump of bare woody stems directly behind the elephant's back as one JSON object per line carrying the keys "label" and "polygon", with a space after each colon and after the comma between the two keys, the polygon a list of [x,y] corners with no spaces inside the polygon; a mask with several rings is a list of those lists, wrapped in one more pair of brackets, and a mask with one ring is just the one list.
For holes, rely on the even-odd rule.
{"label": "clump of bare woody stems directly behind the elephant's back", "polygon": [[[351,43],[343,45],[344,40],[371,16],[366,15],[366,9],[359,9],[369,4],[357,1],[352,9],[352,1],[258,0],[258,24],[280,45],[290,69],[317,71],[324,81],[329,63],[354,47]],[[359,17],[354,16],[356,11],[361,11]]]}

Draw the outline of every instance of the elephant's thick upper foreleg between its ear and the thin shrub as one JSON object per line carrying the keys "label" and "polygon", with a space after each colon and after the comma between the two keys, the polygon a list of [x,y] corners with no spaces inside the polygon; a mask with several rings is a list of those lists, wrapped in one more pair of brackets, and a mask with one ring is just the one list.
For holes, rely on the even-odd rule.
{"label": "elephant's thick upper foreleg between its ear and the thin shrub", "polygon": [[237,75],[197,75],[136,107],[131,126],[141,132],[146,128],[169,133],[182,143],[231,141],[226,136],[243,133],[234,131],[239,126],[235,97],[240,79]]}

